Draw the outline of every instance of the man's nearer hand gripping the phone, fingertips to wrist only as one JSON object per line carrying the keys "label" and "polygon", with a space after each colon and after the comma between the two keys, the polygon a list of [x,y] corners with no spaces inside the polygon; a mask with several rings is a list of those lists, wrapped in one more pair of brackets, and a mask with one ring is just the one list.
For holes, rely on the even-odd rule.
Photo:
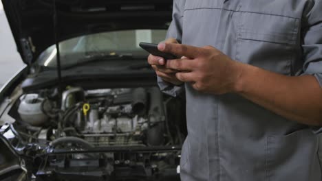
{"label": "man's nearer hand gripping the phone, fingertips to wrist only", "polygon": [[214,47],[160,43],[158,49],[186,57],[169,60],[165,67],[176,70],[175,77],[181,82],[190,82],[195,90],[217,95],[237,91],[237,80],[243,64],[231,60]]}

